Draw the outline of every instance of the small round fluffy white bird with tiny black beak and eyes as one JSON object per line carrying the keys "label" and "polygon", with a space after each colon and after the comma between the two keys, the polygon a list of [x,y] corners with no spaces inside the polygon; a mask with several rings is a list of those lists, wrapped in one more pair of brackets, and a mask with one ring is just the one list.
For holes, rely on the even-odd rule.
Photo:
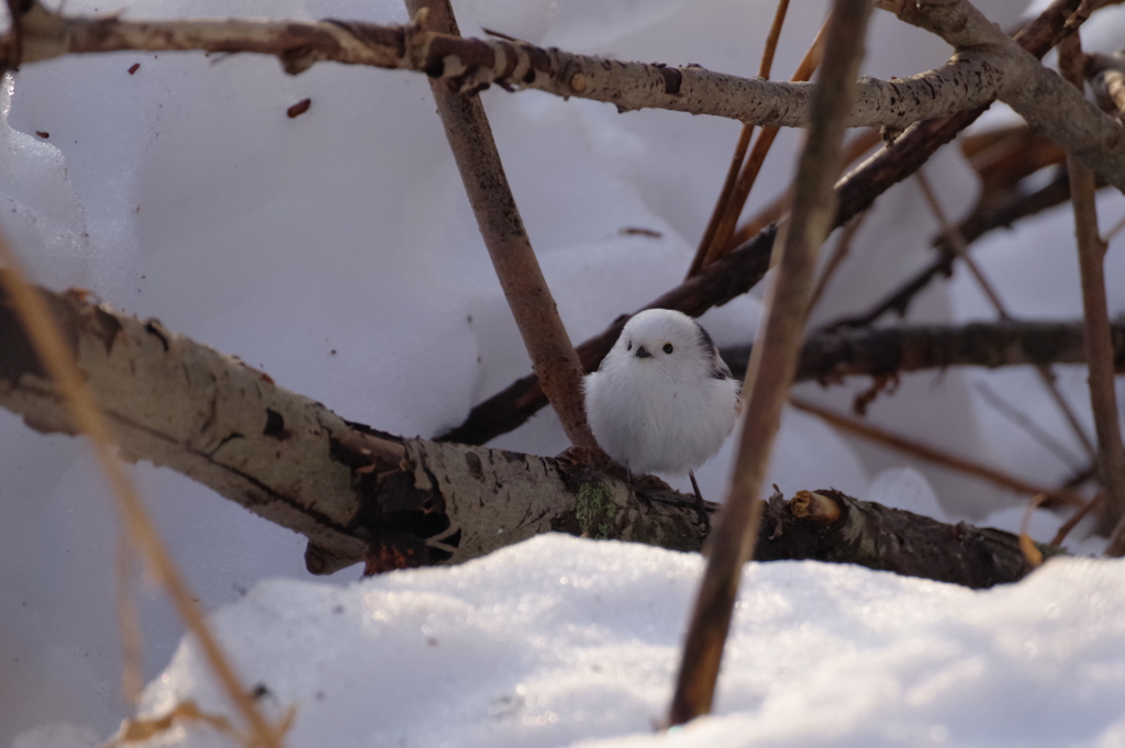
{"label": "small round fluffy white bird with tiny black beak and eyes", "polygon": [[672,309],[633,315],[584,386],[590,427],[610,457],[630,472],[686,472],[699,496],[693,471],[734,429],[741,382],[698,322]]}

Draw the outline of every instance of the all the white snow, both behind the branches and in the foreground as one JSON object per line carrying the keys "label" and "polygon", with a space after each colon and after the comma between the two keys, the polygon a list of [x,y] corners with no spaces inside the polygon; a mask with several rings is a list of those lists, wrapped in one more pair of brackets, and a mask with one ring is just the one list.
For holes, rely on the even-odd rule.
{"label": "all the white snow, both behind the branches and in the foreground", "polygon": [[[976,4],[1005,27],[1024,10]],[[406,19],[397,0],[70,0],[65,9]],[[578,52],[752,74],[773,2],[466,0],[454,9],[466,35],[486,26]],[[776,76],[794,69],[824,9],[794,3]],[[1123,38],[1115,10],[1083,29],[1088,49]],[[878,76],[948,56],[940,40],[879,12],[867,51],[864,72]],[[288,118],[306,97],[310,109]],[[576,342],[680,282],[736,123],[618,115],[538,92],[483,98]],[[290,78],[267,57],[120,53],[26,65],[0,99],[0,228],[39,282],[159,317],[344,417],[405,435],[460,423],[528,372],[421,75],[321,64]],[[1011,119],[993,109],[991,124]],[[786,186],[796,142],[778,138],[750,211]],[[978,188],[955,148],[926,172],[947,213],[969,209]],[[1125,200],[1104,192],[1099,207],[1106,228]],[[916,183],[882,197],[812,323],[866,307],[921,267],[935,229]],[[974,247],[1014,314],[1078,319],[1071,232],[1062,207]],[[1123,264],[1118,240],[1107,259],[1110,315],[1125,310]],[[753,337],[758,296],[704,317],[720,344]],[[927,290],[910,318],[994,315],[958,272]],[[1092,433],[1084,370],[1060,368],[1059,378]],[[1025,370],[909,376],[870,418],[1027,480],[1068,475],[1074,466],[998,416],[980,381],[1078,453]],[[844,408],[865,387],[800,389]],[[566,447],[547,412],[495,443],[543,454]],[[709,497],[722,493],[732,447],[701,471]],[[1025,502],[795,412],[774,452],[767,483],[786,494],[832,486],[1008,529]],[[298,535],[170,471],[142,463],[132,472],[248,685],[269,688],[273,714],[296,706],[290,746],[1125,745],[1117,561],[1053,561],[982,593],[853,567],[753,565],[717,717],[658,736],[698,556],[548,537],[462,568],[313,578]],[[1058,523],[1037,516],[1032,533],[1047,540]],[[119,687],[116,537],[84,444],[0,411],[0,744],[99,745],[132,712]],[[142,711],[195,700],[230,713],[162,595],[142,579],[138,596],[151,679]],[[199,727],[163,740],[231,745]]]}

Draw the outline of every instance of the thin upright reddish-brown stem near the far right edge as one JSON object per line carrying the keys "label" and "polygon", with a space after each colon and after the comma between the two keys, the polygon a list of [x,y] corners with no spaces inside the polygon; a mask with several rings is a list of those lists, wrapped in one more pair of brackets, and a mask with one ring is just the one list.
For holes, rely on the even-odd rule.
{"label": "thin upright reddish-brown stem near the far right edge", "polygon": [[[1082,90],[1082,43],[1078,31],[1059,45],[1059,70]],[[1071,202],[1074,206],[1074,236],[1082,279],[1082,316],[1086,321],[1086,355],[1089,367],[1090,407],[1098,435],[1098,467],[1106,488],[1106,513],[1116,523],[1106,553],[1125,556],[1125,452],[1117,421],[1114,391],[1114,351],[1106,304],[1106,243],[1098,235],[1094,173],[1073,154],[1066,154]]]}

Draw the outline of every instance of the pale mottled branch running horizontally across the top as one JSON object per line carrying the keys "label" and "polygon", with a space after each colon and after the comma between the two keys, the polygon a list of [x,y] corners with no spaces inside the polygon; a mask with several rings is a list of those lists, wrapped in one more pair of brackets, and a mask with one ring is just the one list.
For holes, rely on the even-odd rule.
{"label": "pale mottled branch running horizontally across the top", "polygon": [[[882,4],[898,2],[885,0]],[[917,13],[900,15],[911,22],[917,20]],[[18,38],[9,34],[0,40],[7,67],[64,54],[123,49],[252,52],[277,56],[292,74],[332,61],[422,71],[448,81],[458,92],[496,84],[604,101],[621,111],[660,108],[780,127],[808,124],[811,101],[808,83],[739,78],[695,65],[620,62],[510,39],[461,38],[424,31],[413,24],[335,19],[133,21],[117,16],[65,17],[33,2],[19,27]],[[1006,43],[999,42],[1000,37]],[[891,81],[862,80],[848,126],[901,129],[924,119],[987,107],[1001,98],[1053,138],[1063,138],[1060,142],[1107,182],[1125,189],[1125,155],[1114,153],[1115,148],[1122,151],[1118,146],[1125,136],[1114,120],[1104,115],[1101,119],[1091,117],[1091,111],[1097,112],[1092,106],[1074,116],[1061,108],[1078,101],[1051,84],[1046,71],[1026,53],[1017,54],[1018,46],[994,27],[987,37],[947,34],[946,38],[957,54],[940,69]],[[1032,90],[1028,84],[1033,84]]]}

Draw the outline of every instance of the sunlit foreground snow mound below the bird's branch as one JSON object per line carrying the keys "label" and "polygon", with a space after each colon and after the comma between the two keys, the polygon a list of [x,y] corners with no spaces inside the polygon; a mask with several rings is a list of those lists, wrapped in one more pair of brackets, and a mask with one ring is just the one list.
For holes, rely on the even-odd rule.
{"label": "sunlit foreground snow mound below the bird's branch", "polygon": [[[268,691],[264,711],[296,708],[291,748],[1125,740],[1125,561],[1090,559],[989,592],[852,566],[750,565],[716,715],[654,736],[702,564],[546,535],[343,588],[263,582],[212,620],[246,682]],[[141,713],[186,701],[231,717],[192,641]],[[33,735],[14,748],[44,745]],[[184,722],[143,745],[238,744]]]}

